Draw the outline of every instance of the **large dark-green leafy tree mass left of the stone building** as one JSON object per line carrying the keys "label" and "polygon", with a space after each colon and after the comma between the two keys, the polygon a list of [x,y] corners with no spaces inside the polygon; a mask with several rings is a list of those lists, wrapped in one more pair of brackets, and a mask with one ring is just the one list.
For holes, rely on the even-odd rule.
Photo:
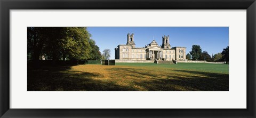
{"label": "large dark-green leafy tree mass left of the stone building", "polygon": [[[99,47],[82,27],[28,27],[28,58],[46,55],[55,60],[99,59]],[[95,53],[92,51],[94,49]],[[98,52],[97,52],[98,51]],[[98,57],[92,57],[94,53]]]}

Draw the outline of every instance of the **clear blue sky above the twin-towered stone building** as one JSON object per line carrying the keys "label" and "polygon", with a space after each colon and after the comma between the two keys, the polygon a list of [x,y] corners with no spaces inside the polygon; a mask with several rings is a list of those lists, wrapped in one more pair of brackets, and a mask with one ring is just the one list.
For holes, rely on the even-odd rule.
{"label": "clear blue sky above the twin-towered stone building", "polygon": [[160,46],[163,35],[170,36],[171,47],[186,47],[186,53],[194,44],[209,55],[222,52],[229,46],[228,27],[87,27],[87,30],[101,52],[111,50],[110,59],[115,59],[114,48],[126,44],[127,33],[134,33],[136,47],[145,47],[153,38]]}

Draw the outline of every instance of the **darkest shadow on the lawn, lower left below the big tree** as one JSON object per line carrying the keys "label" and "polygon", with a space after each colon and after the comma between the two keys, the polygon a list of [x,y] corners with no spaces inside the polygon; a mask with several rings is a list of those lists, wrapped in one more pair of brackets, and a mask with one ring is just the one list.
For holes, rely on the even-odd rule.
{"label": "darkest shadow on the lawn, lower left below the big tree", "polygon": [[112,81],[95,80],[104,78],[95,72],[71,70],[69,66],[59,67],[28,67],[28,91],[79,91],[79,90],[135,90],[118,86]]}

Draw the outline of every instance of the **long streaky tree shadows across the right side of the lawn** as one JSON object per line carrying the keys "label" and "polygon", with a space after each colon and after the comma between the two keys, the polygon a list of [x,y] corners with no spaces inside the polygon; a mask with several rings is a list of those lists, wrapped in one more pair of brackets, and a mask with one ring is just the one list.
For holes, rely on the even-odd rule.
{"label": "long streaky tree shadows across the right side of the lawn", "polygon": [[120,77],[133,78],[135,85],[150,91],[229,90],[228,74],[190,70],[170,70],[170,73],[166,73],[134,68],[111,68],[110,70],[113,74],[119,74]]}

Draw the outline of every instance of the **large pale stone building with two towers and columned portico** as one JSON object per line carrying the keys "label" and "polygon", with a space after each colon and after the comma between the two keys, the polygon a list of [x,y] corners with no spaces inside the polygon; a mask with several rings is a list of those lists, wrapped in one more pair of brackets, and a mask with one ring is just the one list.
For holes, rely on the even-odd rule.
{"label": "large pale stone building with two towers and columned portico", "polygon": [[185,60],[185,47],[171,47],[169,35],[162,37],[163,42],[158,46],[153,40],[145,47],[136,48],[134,42],[134,34],[127,34],[127,43],[119,44],[115,48],[115,59],[119,60]]}

